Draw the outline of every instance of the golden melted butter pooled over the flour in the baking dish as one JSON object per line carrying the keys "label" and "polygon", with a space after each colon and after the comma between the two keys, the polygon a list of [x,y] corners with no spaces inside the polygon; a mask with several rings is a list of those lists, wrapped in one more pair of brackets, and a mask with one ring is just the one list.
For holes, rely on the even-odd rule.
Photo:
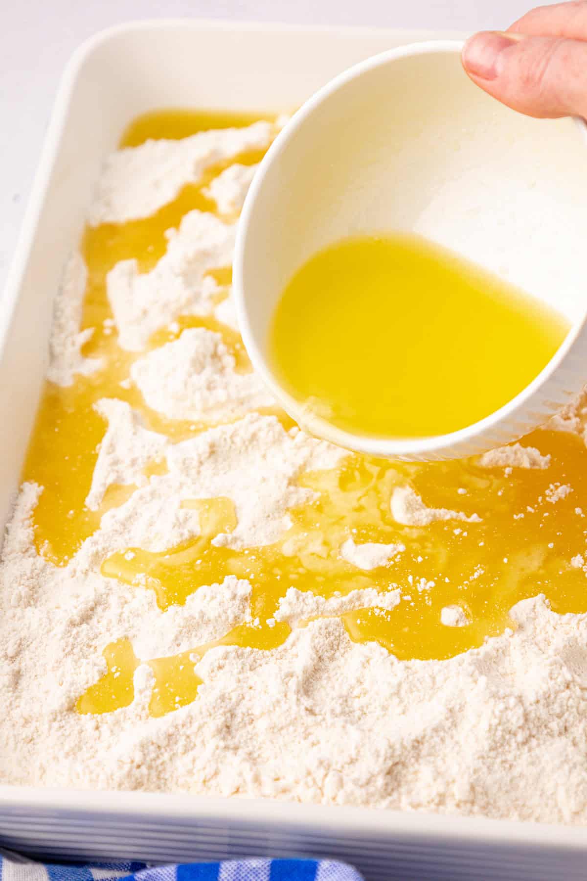
{"label": "golden melted butter pooled over the flour in the baking dish", "polygon": [[[181,115],[178,137],[191,133],[186,120]],[[198,125],[202,117],[195,115],[195,130]],[[141,126],[141,137],[155,133],[173,137],[173,115],[155,115]],[[138,143],[131,136],[132,132],[128,143]],[[238,159],[256,161],[259,157]],[[142,271],[150,270],[165,252],[165,229],[179,226],[183,214],[193,208],[210,211],[213,206],[201,188],[218,170],[210,170],[199,186],[182,190],[151,218],[84,233],[89,277],[83,327],[93,329],[84,355],[104,359],[104,366],[91,376],[77,376],[70,388],[47,384],[24,470],[26,480],[43,487],[33,512],[34,539],[38,551],[55,566],[65,566],[85,538],[99,528],[104,511],[121,505],[134,489],[110,487],[98,512],[85,507],[106,430],[94,403],[102,397],[126,401],[141,414],[145,426],[172,441],[209,427],[161,418],[150,411],[133,386],[121,386],[133,360],[141,356],[123,352],[115,329],[110,322],[104,323],[112,317],[105,282],[106,272],[130,257],[138,260]],[[215,275],[220,298],[224,286],[230,284],[230,270],[218,267]],[[165,344],[186,327],[207,327],[222,333],[235,353],[238,369],[248,369],[235,331],[210,317],[187,316],[178,323],[179,329],[158,331],[151,347]],[[281,418],[284,426],[290,426],[282,414]],[[154,677],[151,714],[186,706],[201,685],[191,658],[197,661],[219,645],[271,650],[282,644],[290,626],[275,622],[275,611],[291,587],[326,598],[356,589],[385,593],[400,587],[403,598],[392,611],[363,609],[341,616],[351,639],[376,640],[400,658],[442,659],[480,646],[486,637],[512,626],[512,605],[540,592],[551,600],[555,611],[587,611],[585,574],[570,563],[585,547],[587,450],[579,437],[566,433],[538,432],[524,443],[552,455],[550,467],[506,473],[503,468],[483,469],[473,460],[408,466],[349,455],[336,469],[300,478],[302,485],[316,493],[315,499],[289,512],[291,526],[280,541],[260,548],[236,550],[213,544],[219,533],[230,534],[235,527],[230,500],[187,500],[184,504],[198,509],[198,537],[163,553],[125,549],[102,561],[102,573],[133,589],[152,590],[162,612],[174,603],[185,603],[202,585],[222,583],[227,575],[246,578],[252,587],[250,622],[219,640],[165,658],[137,658],[129,640],[107,645],[106,675],[80,696],[78,712],[107,713],[128,706],[134,699],[133,677],[139,663],[148,664]],[[145,473],[160,474],[165,469],[162,460],[151,463]],[[551,487],[557,484],[569,484],[573,492],[562,493],[553,503],[548,496],[552,497]],[[393,489],[398,485],[412,485],[429,507],[476,513],[481,522],[402,526],[390,512]],[[341,544],[349,538],[356,544],[401,543],[406,550],[386,566],[364,572],[341,558]],[[466,611],[468,626],[440,623],[440,611],[450,604]]]}

